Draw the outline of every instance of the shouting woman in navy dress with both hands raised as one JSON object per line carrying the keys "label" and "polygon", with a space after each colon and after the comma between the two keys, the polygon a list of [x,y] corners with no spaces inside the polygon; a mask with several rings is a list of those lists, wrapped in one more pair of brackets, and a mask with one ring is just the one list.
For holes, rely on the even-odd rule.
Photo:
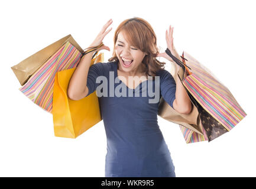
{"label": "shouting woman in navy dress with both hands raised", "polygon": [[[103,26],[90,47],[98,47],[102,43],[112,29],[106,31],[111,24],[112,19]],[[166,31],[166,41],[171,53],[179,58],[173,45],[171,26]],[[103,45],[97,51],[103,49],[110,50]],[[159,100],[149,103],[149,91],[147,96],[131,96],[145,92],[145,86],[151,82],[153,90],[160,93],[160,97],[163,96],[177,112],[189,113],[192,109],[180,80],[177,79],[176,83],[171,74],[163,69],[165,63],[156,59],[161,56],[172,61],[166,53],[158,53],[151,25],[137,17],[123,21],[115,31],[114,53],[108,63],[96,63],[90,67],[93,52],[83,56],[67,93],[70,99],[82,99],[97,89],[100,84],[97,78],[105,76],[108,79],[107,83],[101,83],[109,89],[106,90],[108,95],[99,97],[107,138],[105,177],[175,177],[170,152],[157,123]],[[176,70],[179,70],[178,65]],[[115,83],[110,82],[112,76],[116,79]],[[133,78],[132,82],[127,82],[129,77]],[[155,87],[157,81],[160,83],[158,91]],[[122,94],[128,95],[113,95],[111,87],[115,92],[121,89]]]}

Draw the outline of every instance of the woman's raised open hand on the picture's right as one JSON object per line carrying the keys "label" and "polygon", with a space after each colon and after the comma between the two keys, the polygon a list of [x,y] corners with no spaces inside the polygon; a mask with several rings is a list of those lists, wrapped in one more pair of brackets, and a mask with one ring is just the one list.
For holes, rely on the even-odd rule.
{"label": "woman's raised open hand on the picture's right", "polygon": [[[167,48],[171,51],[171,54],[173,54],[173,56],[178,56],[179,57],[179,54],[177,53],[175,47],[174,47],[174,44],[173,44],[173,28],[174,27],[169,27],[169,31],[166,30],[166,43],[167,43]],[[157,54],[157,57],[164,57],[166,58],[167,60],[170,60],[170,61],[173,61],[173,59],[171,59],[170,56],[168,56],[166,54],[166,52],[164,53],[159,53]]]}

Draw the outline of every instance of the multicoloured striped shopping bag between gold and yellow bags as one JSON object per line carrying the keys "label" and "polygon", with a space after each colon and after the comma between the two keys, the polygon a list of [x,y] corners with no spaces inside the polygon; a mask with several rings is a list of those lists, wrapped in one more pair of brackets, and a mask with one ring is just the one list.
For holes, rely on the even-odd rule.
{"label": "multicoloured striped shopping bag between gold and yellow bags", "polygon": [[67,41],[19,90],[35,104],[51,113],[54,77],[57,71],[76,67],[81,57],[82,53]]}

